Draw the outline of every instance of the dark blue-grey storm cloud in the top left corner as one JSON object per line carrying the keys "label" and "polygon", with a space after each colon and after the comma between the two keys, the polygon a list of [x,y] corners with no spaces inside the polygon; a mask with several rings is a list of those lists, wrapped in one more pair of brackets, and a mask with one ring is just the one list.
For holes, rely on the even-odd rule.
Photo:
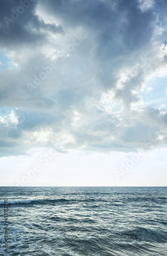
{"label": "dark blue-grey storm cloud in the top left corner", "polygon": [[[21,4],[23,3],[23,4]],[[62,33],[60,26],[45,24],[35,13],[38,1],[2,0],[0,3],[0,44],[8,49],[25,47],[29,44],[43,44],[47,32]],[[29,3],[29,4],[26,4]],[[24,6],[27,6],[26,8]]]}

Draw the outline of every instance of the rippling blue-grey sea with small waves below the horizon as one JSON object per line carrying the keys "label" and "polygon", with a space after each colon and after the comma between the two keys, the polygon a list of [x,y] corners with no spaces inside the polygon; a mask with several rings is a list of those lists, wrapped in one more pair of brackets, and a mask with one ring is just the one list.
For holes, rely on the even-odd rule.
{"label": "rippling blue-grey sea with small waves below the horizon", "polygon": [[0,199],[1,255],[167,255],[166,187],[1,187]]}

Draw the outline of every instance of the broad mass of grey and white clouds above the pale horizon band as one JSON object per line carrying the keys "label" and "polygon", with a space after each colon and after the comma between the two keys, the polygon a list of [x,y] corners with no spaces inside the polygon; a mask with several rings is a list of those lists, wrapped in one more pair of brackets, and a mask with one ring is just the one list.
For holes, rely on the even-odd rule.
{"label": "broad mass of grey and white clouds above the pale horizon band", "polygon": [[0,71],[1,107],[10,108],[0,117],[2,154],[163,146],[165,110],[145,100],[167,68],[157,2],[124,0],[113,9],[100,0],[27,3],[19,14],[23,5],[1,1],[0,50],[11,59]]}

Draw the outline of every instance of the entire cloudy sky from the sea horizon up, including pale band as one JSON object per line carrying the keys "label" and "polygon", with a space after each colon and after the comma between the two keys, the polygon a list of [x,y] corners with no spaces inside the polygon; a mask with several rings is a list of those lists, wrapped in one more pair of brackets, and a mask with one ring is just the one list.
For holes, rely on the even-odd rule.
{"label": "entire cloudy sky from the sea horizon up, including pale band", "polygon": [[165,0],[1,0],[1,186],[166,186]]}

